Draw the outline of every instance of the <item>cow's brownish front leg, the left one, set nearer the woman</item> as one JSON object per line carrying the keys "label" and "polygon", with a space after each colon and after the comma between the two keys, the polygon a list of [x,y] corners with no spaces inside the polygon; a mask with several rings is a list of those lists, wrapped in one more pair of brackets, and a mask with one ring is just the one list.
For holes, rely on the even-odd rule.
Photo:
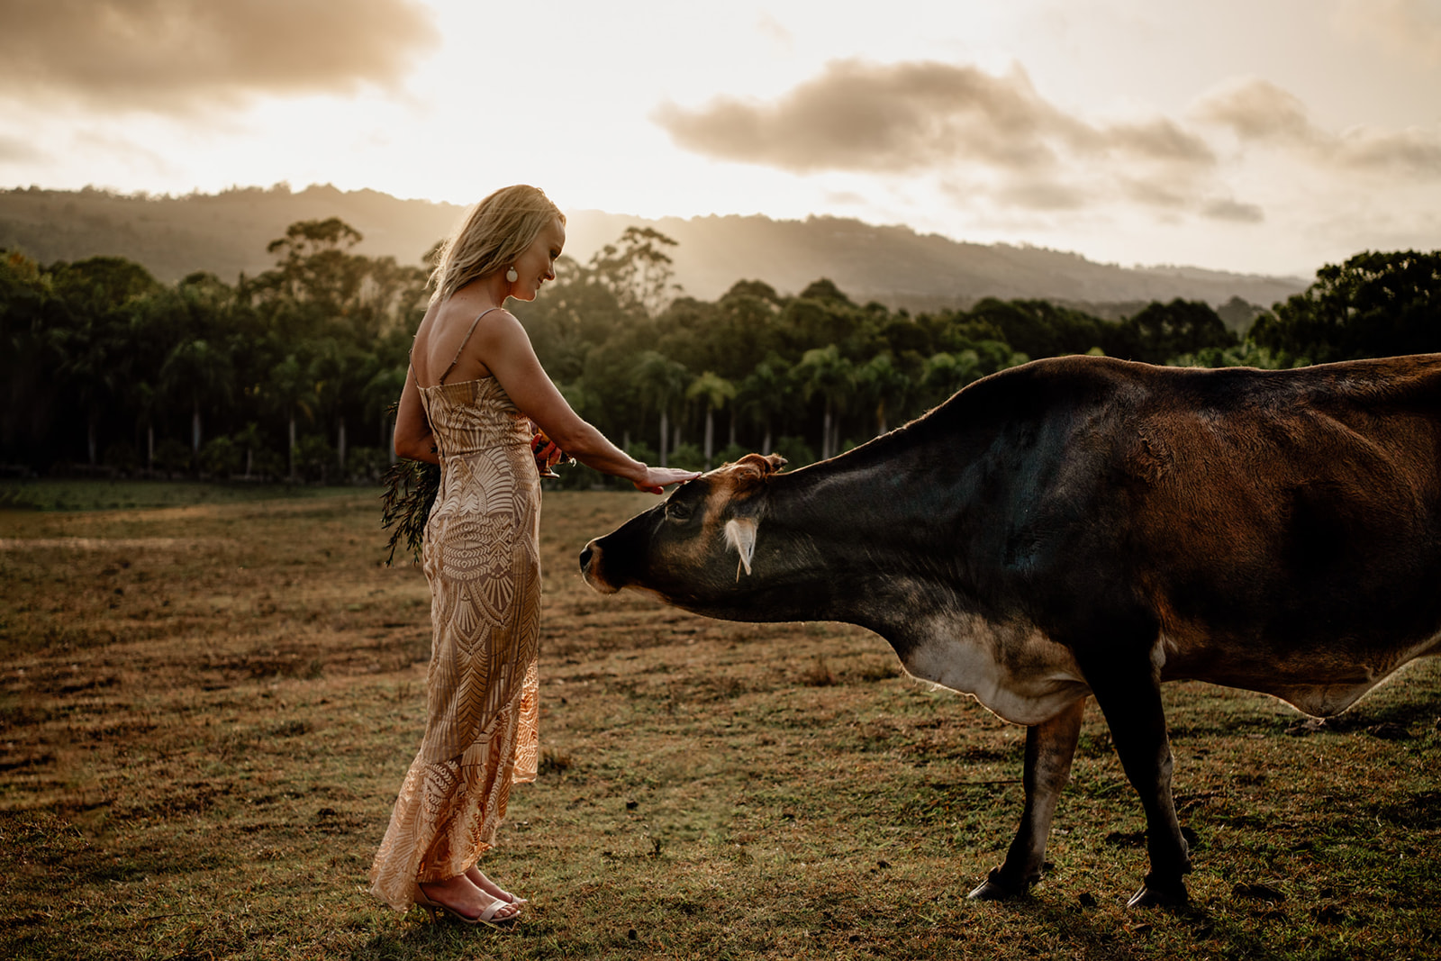
{"label": "cow's brownish front leg, the left one, set nearer the woman", "polygon": [[1071,779],[1071,759],[1076,752],[1084,713],[1085,697],[1081,697],[1050,720],[1026,729],[1026,768],[1022,774],[1026,808],[1020,815],[1020,828],[1006,852],[1006,862],[991,869],[981,886],[970,893],[971,898],[999,900],[1023,895],[1040,880],[1050,817],[1061,790]]}

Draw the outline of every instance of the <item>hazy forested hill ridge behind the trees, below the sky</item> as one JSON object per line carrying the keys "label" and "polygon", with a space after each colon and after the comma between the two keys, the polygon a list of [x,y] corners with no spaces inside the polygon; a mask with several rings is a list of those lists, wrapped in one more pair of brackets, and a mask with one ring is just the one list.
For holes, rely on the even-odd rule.
{"label": "hazy forested hill ridge behind the trees, below the sky", "polygon": [[[340,218],[365,241],[357,252],[418,264],[464,212],[427,200],[331,186],[232,189],[219,195],[143,197],[78,192],[0,190],[0,248],[42,264],[114,255],[143,264],[166,282],[209,271],[226,282],[274,267],[267,245],[298,220]],[[981,297],[1045,298],[1134,307],[1176,297],[1219,305],[1232,297],[1270,307],[1306,290],[1290,277],[1226,274],[1185,267],[1123,268],[1076,254],[1030,246],[958,243],[908,228],[839,218],[771,220],[764,216],[646,220],[598,210],[568,210],[566,254],[585,262],[627,226],[651,226],[679,241],[670,248],[684,292],[713,300],[738,280],[765,281],[794,294],[829,278],[860,303],[912,311],[967,307]]]}

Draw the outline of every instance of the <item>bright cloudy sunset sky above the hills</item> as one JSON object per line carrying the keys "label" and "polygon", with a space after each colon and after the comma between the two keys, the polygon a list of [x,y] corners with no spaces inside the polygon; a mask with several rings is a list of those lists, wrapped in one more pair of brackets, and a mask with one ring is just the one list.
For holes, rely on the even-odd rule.
{"label": "bright cloudy sunset sky above the hills", "polygon": [[1441,0],[0,0],[0,187],[277,183],[1304,278],[1441,248]]}

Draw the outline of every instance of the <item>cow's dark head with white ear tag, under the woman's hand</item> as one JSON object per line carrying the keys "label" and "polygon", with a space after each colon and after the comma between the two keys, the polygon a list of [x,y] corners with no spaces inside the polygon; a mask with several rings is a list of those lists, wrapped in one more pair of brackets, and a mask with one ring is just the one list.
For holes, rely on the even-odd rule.
{"label": "cow's dark head with white ear tag, under the woman's hand", "polygon": [[749,578],[769,478],[785,458],[746,454],[682,484],[581,552],[581,572],[601,594],[635,588],[693,611],[725,605]]}

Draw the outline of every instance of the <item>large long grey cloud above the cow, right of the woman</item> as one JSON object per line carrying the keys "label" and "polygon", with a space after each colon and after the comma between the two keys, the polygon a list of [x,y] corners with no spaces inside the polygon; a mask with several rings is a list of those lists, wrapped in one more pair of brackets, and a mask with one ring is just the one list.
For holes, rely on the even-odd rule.
{"label": "large long grey cloud above the cow, right of the woman", "polygon": [[[935,174],[976,202],[1076,210],[1124,197],[1195,206],[1216,156],[1167,118],[1092,124],[1042,98],[1025,71],[836,61],[768,102],[661,104],[651,118],[703,156],[793,173]],[[963,176],[964,174],[964,176]]]}

